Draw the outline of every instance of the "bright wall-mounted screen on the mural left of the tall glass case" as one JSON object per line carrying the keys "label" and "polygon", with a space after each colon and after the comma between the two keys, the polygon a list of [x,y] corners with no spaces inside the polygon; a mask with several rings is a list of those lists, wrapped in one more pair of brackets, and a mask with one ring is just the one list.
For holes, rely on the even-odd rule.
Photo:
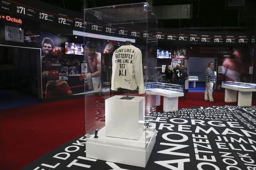
{"label": "bright wall-mounted screen on the mural left of the tall glass case", "polygon": [[81,43],[65,43],[65,54],[84,55],[84,44]]}

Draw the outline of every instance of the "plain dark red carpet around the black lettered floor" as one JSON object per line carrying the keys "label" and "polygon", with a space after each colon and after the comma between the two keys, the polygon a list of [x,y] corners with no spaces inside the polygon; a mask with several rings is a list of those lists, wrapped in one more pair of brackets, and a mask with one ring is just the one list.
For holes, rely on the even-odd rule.
{"label": "plain dark red carpet around the black lettered floor", "polygon": [[[103,102],[101,97],[96,100]],[[214,92],[214,100],[205,102],[204,93],[190,92],[186,100],[179,98],[179,108],[236,105],[225,103],[222,92]],[[0,169],[19,170],[84,133],[84,98],[1,110]]]}

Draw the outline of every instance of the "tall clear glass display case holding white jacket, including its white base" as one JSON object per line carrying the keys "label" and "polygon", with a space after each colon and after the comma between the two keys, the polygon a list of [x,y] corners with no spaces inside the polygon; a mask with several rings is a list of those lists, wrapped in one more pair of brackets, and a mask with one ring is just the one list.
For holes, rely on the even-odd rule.
{"label": "tall clear glass display case holding white jacket, including its white base", "polygon": [[[156,79],[157,20],[148,3],[84,10],[86,157],[145,167],[156,140],[144,82]],[[137,88],[138,86],[138,88]]]}

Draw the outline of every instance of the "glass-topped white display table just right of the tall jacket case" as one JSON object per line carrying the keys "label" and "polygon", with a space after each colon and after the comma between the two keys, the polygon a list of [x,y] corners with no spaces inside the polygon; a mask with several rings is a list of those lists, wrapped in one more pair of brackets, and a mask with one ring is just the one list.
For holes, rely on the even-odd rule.
{"label": "glass-topped white display table just right of the tall jacket case", "polygon": [[147,96],[147,106],[158,106],[160,97],[164,97],[163,110],[165,112],[178,110],[178,97],[184,96],[183,86],[178,84],[168,84],[161,82],[145,83]]}

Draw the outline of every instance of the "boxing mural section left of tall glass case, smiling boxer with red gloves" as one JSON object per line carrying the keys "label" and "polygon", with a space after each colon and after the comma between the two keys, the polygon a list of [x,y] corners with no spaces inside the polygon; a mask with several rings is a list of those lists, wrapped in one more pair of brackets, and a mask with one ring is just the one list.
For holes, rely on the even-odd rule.
{"label": "boxing mural section left of tall glass case, smiling boxer with red gloves", "polygon": [[[65,41],[72,38],[52,33],[41,33],[41,37],[43,98],[83,93],[84,84],[79,80],[83,56],[65,54]],[[82,38],[76,41],[82,42]]]}

